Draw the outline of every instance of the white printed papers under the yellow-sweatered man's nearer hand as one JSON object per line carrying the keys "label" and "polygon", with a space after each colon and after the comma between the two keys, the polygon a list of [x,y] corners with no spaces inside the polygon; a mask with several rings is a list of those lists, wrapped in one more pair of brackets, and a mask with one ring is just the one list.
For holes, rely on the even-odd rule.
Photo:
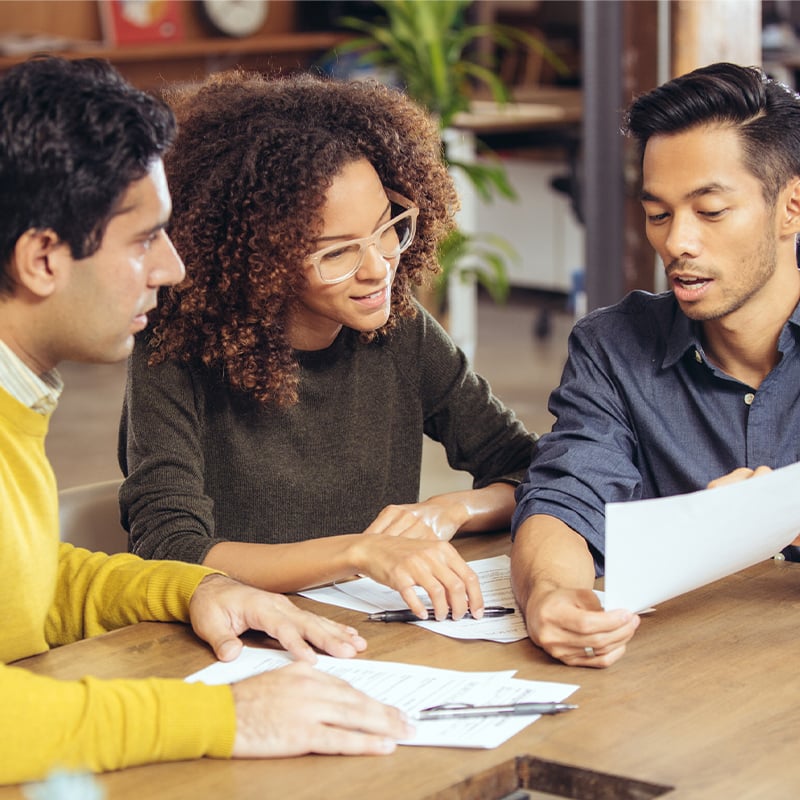
{"label": "white printed papers under the yellow-sweatered man's nearer hand", "polygon": [[[232,683],[291,663],[283,650],[245,647],[231,662],[218,661],[186,678],[189,683]],[[501,705],[520,702],[561,702],[579,686],[566,683],[525,681],[506,672],[460,672],[414,664],[369,661],[359,658],[318,656],[316,667],[360,689],[383,703],[405,711],[417,733],[401,742],[427,747],[498,747],[539,719],[538,716],[469,717],[414,721],[416,712],[443,703]],[[578,714],[580,710],[570,711]]]}

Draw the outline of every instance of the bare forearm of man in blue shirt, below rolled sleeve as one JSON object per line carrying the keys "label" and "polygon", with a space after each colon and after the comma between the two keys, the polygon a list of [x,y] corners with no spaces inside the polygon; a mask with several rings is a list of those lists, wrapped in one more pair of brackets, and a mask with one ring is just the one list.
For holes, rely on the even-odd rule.
{"label": "bare forearm of man in blue shirt, below rolled sleeve", "polygon": [[594,560],[586,541],[560,519],[535,514],[517,530],[511,585],[522,608],[534,595],[555,589],[591,589],[594,579]]}

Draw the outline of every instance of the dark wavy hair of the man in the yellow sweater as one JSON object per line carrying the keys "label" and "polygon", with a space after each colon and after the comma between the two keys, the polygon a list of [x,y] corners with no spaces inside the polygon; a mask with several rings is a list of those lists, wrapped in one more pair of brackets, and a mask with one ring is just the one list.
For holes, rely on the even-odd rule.
{"label": "dark wavy hair of the man in the yellow sweater", "polygon": [[0,79],[0,292],[27,230],[52,229],[74,258],[99,247],[128,186],[175,136],[161,100],[110,64],[34,57]]}

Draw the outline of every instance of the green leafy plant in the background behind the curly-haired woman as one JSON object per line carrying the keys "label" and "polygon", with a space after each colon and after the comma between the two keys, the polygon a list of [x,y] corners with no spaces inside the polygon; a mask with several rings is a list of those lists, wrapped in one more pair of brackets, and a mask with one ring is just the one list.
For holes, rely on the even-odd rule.
{"label": "green leafy plant in the background behind the curly-haired woman", "polygon": [[[563,71],[564,65],[539,39],[524,31],[499,24],[471,24],[472,0],[376,0],[385,16],[367,21],[348,16],[340,24],[363,36],[337,48],[338,53],[357,53],[362,64],[390,70],[409,96],[426,106],[439,120],[442,131],[456,115],[467,111],[476,91],[489,91],[492,99],[506,103],[510,91],[497,74],[496,56],[481,60],[479,45],[488,42],[501,53],[523,46],[539,53]],[[445,137],[446,140],[447,137]],[[453,170],[461,171],[479,197],[516,199],[505,167],[484,152],[480,163],[445,157]],[[435,288],[441,303],[451,277],[477,280],[498,302],[508,294],[506,263],[517,254],[509,243],[491,234],[455,230],[439,252],[442,271]]]}

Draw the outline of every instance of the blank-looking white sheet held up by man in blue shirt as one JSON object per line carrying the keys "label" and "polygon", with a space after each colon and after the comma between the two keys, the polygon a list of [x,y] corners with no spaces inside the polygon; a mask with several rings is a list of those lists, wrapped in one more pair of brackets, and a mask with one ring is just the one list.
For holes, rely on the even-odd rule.
{"label": "blank-looking white sheet held up by man in blue shirt", "polygon": [[800,463],[690,494],[606,505],[608,610],[640,611],[771,558],[800,533]]}

